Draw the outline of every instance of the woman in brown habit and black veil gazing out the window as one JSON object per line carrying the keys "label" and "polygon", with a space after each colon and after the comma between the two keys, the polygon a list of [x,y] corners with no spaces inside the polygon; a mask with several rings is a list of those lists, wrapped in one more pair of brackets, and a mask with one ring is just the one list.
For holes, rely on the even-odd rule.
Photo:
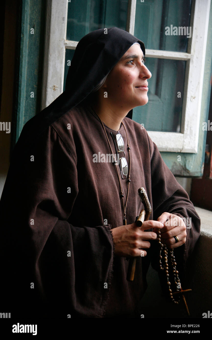
{"label": "woman in brown habit and black veil gazing out the window", "polygon": [[[194,206],[130,119],[148,101],[144,56],[142,41],[116,27],[87,34],[66,90],[22,130],[0,201],[1,288],[14,317],[139,317],[150,262],[158,269],[156,231],[180,268],[193,250]],[[140,187],[152,212],[138,228]],[[166,226],[173,216],[177,226]],[[187,235],[183,217],[192,218]],[[137,257],[132,282],[129,257]]]}

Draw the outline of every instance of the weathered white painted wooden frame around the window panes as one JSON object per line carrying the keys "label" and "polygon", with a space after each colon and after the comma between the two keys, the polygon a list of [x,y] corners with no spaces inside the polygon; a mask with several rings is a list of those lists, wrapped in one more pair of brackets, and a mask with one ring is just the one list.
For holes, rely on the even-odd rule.
{"label": "weathered white painted wooden frame around the window panes", "polygon": [[[193,14],[191,53],[146,49],[146,56],[187,61],[180,133],[148,131],[160,151],[197,153],[201,96],[211,0],[196,0]],[[42,109],[63,92],[65,50],[78,41],[66,40],[68,1],[47,1]],[[127,31],[134,34],[136,0],[128,2]],[[165,32],[164,32],[165,34]]]}

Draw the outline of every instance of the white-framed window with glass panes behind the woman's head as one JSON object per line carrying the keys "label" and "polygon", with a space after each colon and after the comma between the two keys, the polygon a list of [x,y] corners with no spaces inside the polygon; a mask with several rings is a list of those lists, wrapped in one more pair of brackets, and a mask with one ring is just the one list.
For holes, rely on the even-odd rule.
{"label": "white-framed window with glass panes behind the woman's head", "polygon": [[[144,40],[149,47],[149,102],[133,109],[133,120],[144,123],[160,151],[197,153],[209,0],[196,0],[195,4],[184,0],[63,0],[60,6],[53,0],[48,10],[48,70],[42,108],[63,92],[78,41],[95,29],[117,26]],[[179,32],[175,27],[179,27]],[[173,33],[177,35],[171,36]]]}

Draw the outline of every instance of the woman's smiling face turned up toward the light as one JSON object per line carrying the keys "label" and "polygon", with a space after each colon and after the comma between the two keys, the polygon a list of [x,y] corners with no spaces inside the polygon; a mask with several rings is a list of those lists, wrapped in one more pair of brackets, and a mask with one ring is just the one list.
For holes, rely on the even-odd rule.
{"label": "woman's smiling face turned up toward the light", "polygon": [[151,78],[151,73],[144,65],[143,57],[140,45],[135,44],[110,71],[102,87],[108,92],[111,103],[133,108],[148,102],[147,79]]}

